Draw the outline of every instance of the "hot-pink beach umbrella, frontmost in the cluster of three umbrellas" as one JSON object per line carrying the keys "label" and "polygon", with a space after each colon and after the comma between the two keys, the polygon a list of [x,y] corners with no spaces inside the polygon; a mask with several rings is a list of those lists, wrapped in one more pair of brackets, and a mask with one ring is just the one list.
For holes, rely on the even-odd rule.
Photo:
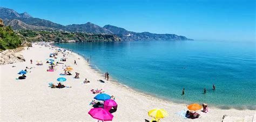
{"label": "hot-pink beach umbrella, frontmost in the cluster of three umbrellas", "polygon": [[91,109],[88,114],[90,114],[92,118],[102,121],[112,121],[114,117],[109,111],[102,109],[101,107]]}

